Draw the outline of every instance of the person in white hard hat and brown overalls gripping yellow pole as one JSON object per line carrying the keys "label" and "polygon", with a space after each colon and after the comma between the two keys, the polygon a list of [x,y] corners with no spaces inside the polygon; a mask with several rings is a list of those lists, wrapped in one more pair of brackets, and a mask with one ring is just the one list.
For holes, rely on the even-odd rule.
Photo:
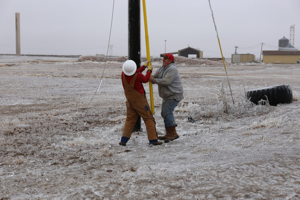
{"label": "person in white hard hat and brown overalls gripping yellow pole", "polygon": [[150,111],[148,101],[146,99],[146,92],[143,83],[148,83],[152,73],[152,67],[149,66],[146,76],[141,72],[148,66],[147,61],[143,66],[137,69],[137,65],[133,60],[127,60],[123,64],[122,84],[126,96],[126,121],[119,145],[126,146],[126,143],[131,137],[134,125],[140,115],[146,125],[149,144],[160,145],[162,142],[158,141],[158,135],[155,128],[155,120]]}

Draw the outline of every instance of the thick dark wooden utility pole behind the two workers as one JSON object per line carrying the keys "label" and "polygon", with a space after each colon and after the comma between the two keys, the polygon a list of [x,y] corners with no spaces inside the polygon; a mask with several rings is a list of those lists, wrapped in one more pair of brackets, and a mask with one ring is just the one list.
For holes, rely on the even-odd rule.
{"label": "thick dark wooden utility pole behind the two workers", "polygon": [[[141,66],[141,16],[140,0],[128,0],[128,60]],[[138,117],[133,132],[142,131],[141,116]]]}

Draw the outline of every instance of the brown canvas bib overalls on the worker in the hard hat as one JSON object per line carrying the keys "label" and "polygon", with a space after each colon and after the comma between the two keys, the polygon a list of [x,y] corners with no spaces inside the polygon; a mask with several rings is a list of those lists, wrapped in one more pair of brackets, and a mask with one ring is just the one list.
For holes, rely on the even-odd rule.
{"label": "brown canvas bib overalls on the worker in the hard hat", "polygon": [[132,130],[134,129],[134,125],[136,124],[137,118],[140,115],[146,125],[148,140],[157,140],[158,135],[155,128],[156,123],[150,111],[146,95],[141,94],[136,89],[134,89],[134,82],[137,78],[137,74],[138,73],[134,74],[134,77],[132,78],[129,85],[125,78],[125,74],[123,74],[124,93],[127,99],[127,114],[122,137],[130,139]]}

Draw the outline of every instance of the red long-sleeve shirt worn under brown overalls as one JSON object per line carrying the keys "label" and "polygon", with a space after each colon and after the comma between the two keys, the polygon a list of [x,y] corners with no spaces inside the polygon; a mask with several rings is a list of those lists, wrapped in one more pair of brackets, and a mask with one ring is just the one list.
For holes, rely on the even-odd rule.
{"label": "red long-sleeve shirt worn under brown overalls", "polygon": [[[151,75],[151,72],[147,71],[146,76],[144,76],[141,73],[144,70],[145,70],[144,65],[137,69],[136,73],[138,72],[138,74],[137,74],[137,78],[135,79],[135,82],[134,82],[134,89],[136,89],[141,94],[145,93],[143,83],[148,83],[150,75]],[[123,74],[124,74],[124,72],[122,71],[122,76],[121,77],[122,77],[122,85],[123,85],[123,89],[124,89]],[[128,75],[125,74],[125,78],[126,78],[126,81],[127,81],[128,84],[130,83],[130,81],[132,80],[133,77],[134,77],[134,74],[131,75],[131,76],[128,76]]]}

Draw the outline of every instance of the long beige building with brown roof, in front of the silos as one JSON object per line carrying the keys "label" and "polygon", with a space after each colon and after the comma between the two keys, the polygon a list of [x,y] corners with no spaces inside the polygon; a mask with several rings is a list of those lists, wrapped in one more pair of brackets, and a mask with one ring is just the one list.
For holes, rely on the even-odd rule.
{"label": "long beige building with brown roof, in front of the silos", "polygon": [[300,51],[262,51],[262,62],[296,64],[299,60]]}

